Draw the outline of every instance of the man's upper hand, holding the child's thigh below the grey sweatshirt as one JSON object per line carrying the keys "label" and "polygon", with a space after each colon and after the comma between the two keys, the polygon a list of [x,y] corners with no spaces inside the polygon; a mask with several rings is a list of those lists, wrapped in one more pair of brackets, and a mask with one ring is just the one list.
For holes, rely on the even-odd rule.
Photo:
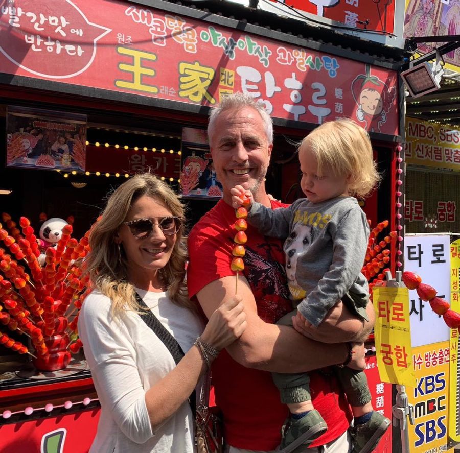
{"label": "man's upper hand, holding the child's thigh below the grey sweatshirt", "polygon": [[292,323],[297,332],[321,343],[363,342],[369,337],[369,333],[374,327],[375,313],[372,303],[367,304],[366,312],[369,322],[356,318],[343,305],[342,301],[339,301],[316,328],[307,326],[305,321],[297,318],[297,316],[292,317]]}

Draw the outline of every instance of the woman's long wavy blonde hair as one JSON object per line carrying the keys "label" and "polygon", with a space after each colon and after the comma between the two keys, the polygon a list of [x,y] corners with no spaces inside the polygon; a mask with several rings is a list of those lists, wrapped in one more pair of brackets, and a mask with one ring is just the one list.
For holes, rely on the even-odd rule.
{"label": "woman's long wavy blonde hair", "polygon": [[90,230],[90,253],[84,260],[83,272],[89,274],[91,284],[112,301],[112,314],[120,316],[127,306],[134,311],[140,307],[135,300],[134,285],[128,281],[127,260],[123,246],[115,242],[118,229],[125,221],[129,209],[141,197],[151,197],[180,218],[182,225],[176,233],[171,258],[159,279],[165,285],[170,299],[177,305],[195,309],[185,283],[187,251],[183,236],[185,209],[177,195],[163,181],[149,173],[133,176],[109,197],[102,218]]}

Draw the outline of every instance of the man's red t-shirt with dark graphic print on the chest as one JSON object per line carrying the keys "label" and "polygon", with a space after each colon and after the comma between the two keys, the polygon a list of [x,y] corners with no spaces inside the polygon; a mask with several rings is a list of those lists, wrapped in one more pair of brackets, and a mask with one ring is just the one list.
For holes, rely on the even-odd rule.
{"label": "man's red t-shirt with dark graphic print on the chest", "polygon": [[[284,206],[275,201],[271,205],[273,209]],[[235,210],[220,200],[190,232],[187,269],[190,297],[212,281],[235,274],[230,269],[235,220]],[[283,244],[261,235],[250,225],[246,234],[242,273],[254,293],[259,317],[275,323],[292,310]],[[212,373],[216,403],[224,415],[226,441],[237,448],[274,450],[280,444],[281,426],[288,409],[280,402],[271,373],[246,368],[225,350],[214,361]],[[341,436],[350,425],[351,413],[335,375],[321,371],[309,375],[313,405],[328,424],[328,431],[311,444],[315,447]]]}

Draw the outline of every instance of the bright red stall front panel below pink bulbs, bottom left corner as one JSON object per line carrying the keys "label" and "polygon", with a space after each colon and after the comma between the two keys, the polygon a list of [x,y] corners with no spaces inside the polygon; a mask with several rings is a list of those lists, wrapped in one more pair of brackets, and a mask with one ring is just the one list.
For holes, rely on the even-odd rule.
{"label": "bright red stall front panel below pink bulbs, bottom left corner", "polygon": [[[2,453],[86,453],[93,443],[99,421],[100,408],[58,417],[41,418],[0,426]],[[42,437],[56,430],[65,430],[61,450],[41,450]]]}

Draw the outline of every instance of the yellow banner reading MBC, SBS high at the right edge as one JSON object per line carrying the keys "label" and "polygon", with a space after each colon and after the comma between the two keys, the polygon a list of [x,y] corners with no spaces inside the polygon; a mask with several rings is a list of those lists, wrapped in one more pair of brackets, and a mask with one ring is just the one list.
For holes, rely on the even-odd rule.
{"label": "yellow banner reading MBC, SBS high at the right edge", "polygon": [[460,171],[460,131],[406,117],[406,163]]}

